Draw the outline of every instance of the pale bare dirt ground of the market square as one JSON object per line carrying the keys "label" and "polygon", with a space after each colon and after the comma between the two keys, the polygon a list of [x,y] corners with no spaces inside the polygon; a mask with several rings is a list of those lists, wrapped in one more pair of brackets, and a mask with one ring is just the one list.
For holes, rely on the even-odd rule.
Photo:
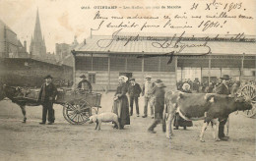
{"label": "pale bare dirt ground of the market square", "polygon": [[[103,94],[99,112],[110,111],[113,93]],[[215,141],[209,129],[206,142],[199,141],[202,121],[193,122],[188,130],[174,131],[165,138],[161,126],[157,134],[148,134],[151,118],[131,117],[125,130],[113,130],[111,124],[75,126],[62,116],[62,106],[54,105],[56,123],[39,125],[41,107],[27,107],[28,123],[21,123],[20,108],[10,102],[0,102],[0,160],[255,160],[255,128],[253,119],[230,115],[228,141]],[[143,114],[143,99],[140,99]]]}

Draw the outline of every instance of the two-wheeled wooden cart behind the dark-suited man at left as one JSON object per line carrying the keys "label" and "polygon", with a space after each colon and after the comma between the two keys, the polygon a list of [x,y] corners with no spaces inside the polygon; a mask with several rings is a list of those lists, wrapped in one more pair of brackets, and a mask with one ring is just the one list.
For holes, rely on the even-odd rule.
{"label": "two-wheeled wooden cart behind the dark-suited man at left", "polygon": [[[26,105],[38,106],[39,89],[20,88],[21,92],[14,97]],[[70,124],[84,124],[89,117],[97,114],[100,107],[100,93],[85,92],[81,90],[58,88],[56,100],[53,103],[63,106],[63,117]]]}

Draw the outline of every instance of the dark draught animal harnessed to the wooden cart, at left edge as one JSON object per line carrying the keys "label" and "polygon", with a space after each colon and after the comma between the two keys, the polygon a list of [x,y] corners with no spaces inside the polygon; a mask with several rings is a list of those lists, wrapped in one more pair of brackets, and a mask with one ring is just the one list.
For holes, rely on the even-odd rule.
{"label": "dark draught animal harnessed to the wooden cart, at left edge", "polygon": [[0,87],[0,101],[4,99],[5,97],[8,97],[12,100],[12,102],[18,104],[21,109],[24,116],[23,123],[26,123],[27,116],[26,116],[26,106],[38,106],[40,105],[37,101],[32,100],[26,100],[21,99],[24,96],[33,98],[35,97],[34,91],[25,91],[26,89],[22,89],[20,87],[13,87],[13,86],[7,86],[7,85],[1,85]]}

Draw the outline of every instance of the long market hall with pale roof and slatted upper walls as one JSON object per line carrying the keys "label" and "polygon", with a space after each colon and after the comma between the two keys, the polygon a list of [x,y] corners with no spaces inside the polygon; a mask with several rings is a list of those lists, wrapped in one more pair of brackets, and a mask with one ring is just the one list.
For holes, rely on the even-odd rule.
{"label": "long market hall with pale roof and slatted upper walls", "polygon": [[[169,89],[176,89],[176,81],[180,79],[215,81],[229,75],[233,80],[255,80],[255,36],[230,40],[232,36],[208,38],[207,46],[203,46],[205,37],[182,37],[182,44],[199,47],[186,47],[168,64],[170,57],[164,54],[180,49],[166,46],[170,41],[164,41],[171,36],[123,34],[113,39],[94,35],[72,51],[73,80],[77,84],[80,76],[86,75],[94,90],[115,90],[121,75],[134,78],[140,84],[150,75],[153,80],[162,80]],[[209,51],[210,54],[204,55]]]}

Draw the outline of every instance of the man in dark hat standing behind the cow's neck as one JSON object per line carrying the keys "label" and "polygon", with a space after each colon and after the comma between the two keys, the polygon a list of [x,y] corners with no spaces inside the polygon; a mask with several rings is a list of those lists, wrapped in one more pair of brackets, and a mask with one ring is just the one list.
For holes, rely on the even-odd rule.
{"label": "man in dark hat standing behind the cow's neck", "polygon": [[[224,75],[222,78],[222,83],[216,87],[216,93],[218,94],[224,94],[224,95],[229,95],[230,94],[230,89],[228,87],[228,80],[230,80],[228,75]],[[227,140],[228,137],[224,135],[224,125],[226,123],[228,118],[225,118],[223,120],[219,119],[220,125],[219,125],[219,137],[222,140]]]}

